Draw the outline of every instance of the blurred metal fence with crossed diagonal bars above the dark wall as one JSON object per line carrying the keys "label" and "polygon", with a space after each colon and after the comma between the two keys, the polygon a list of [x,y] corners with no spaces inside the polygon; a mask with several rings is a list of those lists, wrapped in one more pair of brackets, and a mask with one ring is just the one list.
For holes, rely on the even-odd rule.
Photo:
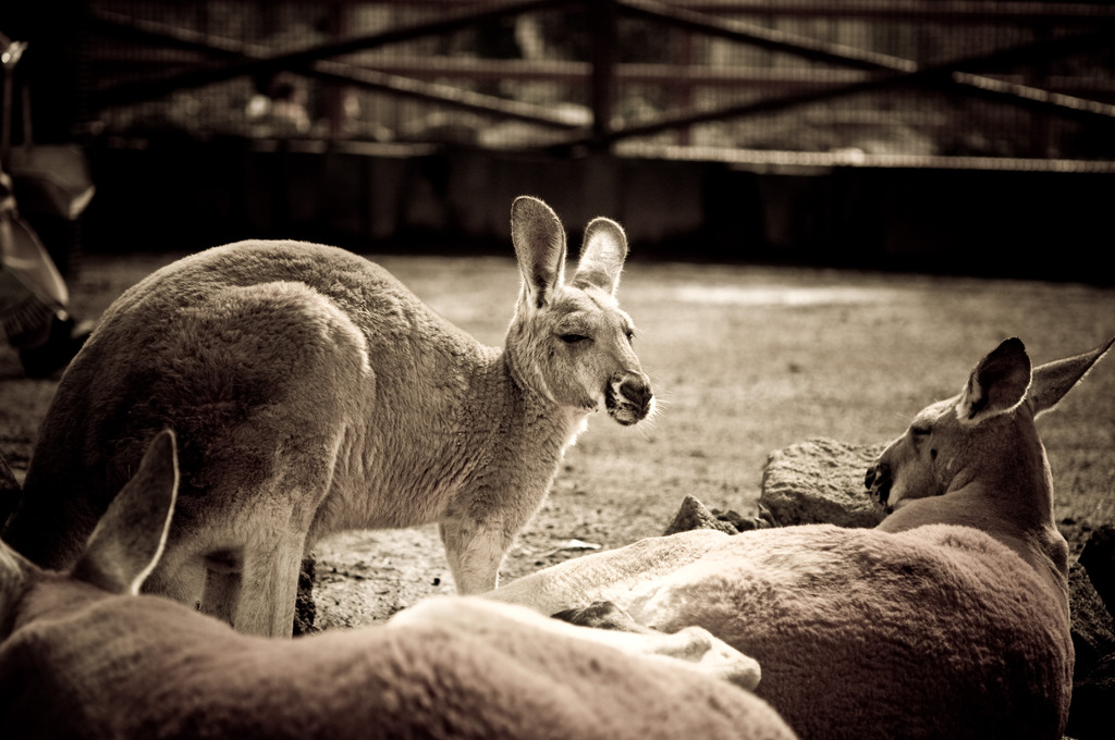
{"label": "blurred metal fence with crossed diagonal bars above the dark wall", "polygon": [[95,0],[85,39],[122,144],[1115,171],[1106,1]]}

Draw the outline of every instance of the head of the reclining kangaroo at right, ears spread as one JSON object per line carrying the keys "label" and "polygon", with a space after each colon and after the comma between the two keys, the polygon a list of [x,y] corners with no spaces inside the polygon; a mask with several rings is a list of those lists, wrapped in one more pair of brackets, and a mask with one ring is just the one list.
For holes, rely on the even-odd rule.
{"label": "head of the reclining kangaroo at right, ears spread", "polygon": [[903,499],[941,496],[973,483],[1007,488],[1037,479],[1050,497],[1040,505],[1051,507],[1048,464],[1034,419],[1054,408],[1112,342],[1031,372],[1022,342],[1006,340],[979,361],[958,396],[914,416],[867,470],[867,488],[891,509]]}

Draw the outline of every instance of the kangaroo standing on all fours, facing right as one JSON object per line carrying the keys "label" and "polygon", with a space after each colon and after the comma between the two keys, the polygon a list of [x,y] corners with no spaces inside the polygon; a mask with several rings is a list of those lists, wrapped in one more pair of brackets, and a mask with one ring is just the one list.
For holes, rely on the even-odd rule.
{"label": "kangaroo standing on all fours, facing right", "polygon": [[615,301],[622,228],[588,225],[568,284],[549,206],[516,198],[511,233],[523,284],[503,351],[334,247],[239,242],[155,272],[64,376],[4,538],[71,565],[168,427],[182,489],[151,593],[289,635],[316,539],[433,522],[457,590],[496,587],[588,415],[632,425],[653,408]]}

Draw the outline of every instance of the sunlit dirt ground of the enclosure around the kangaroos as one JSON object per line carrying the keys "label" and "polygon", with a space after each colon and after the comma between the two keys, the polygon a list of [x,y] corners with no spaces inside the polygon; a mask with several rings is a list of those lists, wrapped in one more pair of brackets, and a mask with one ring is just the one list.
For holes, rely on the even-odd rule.
{"label": "sunlit dirt ground of the enclosure around the kangaroos", "polygon": [[[958,392],[1007,337],[1043,362],[1115,335],[1111,288],[642,262],[633,250],[619,296],[639,327],[636,347],[661,410],[633,429],[591,419],[504,580],[660,534],[686,494],[749,515],[772,450],[812,437],[885,441],[917,410]],[[98,315],[176,256],[87,255],[71,284],[75,313]],[[502,343],[518,286],[510,256],[374,259],[478,340]],[[56,386],[23,378],[14,353],[0,349],[0,451],[18,475]],[[1038,426],[1058,517],[1115,523],[1115,359]],[[314,555],[322,629],[382,620],[453,591],[433,527],[348,533]]]}

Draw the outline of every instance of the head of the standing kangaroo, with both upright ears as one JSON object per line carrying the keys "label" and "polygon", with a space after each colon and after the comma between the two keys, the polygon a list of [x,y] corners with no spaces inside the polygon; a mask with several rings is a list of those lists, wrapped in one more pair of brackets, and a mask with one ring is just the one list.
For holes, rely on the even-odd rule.
{"label": "head of the standing kangaroo, with both upright ears", "polygon": [[518,382],[565,408],[604,408],[622,425],[647,418],[655,396],[631,347],[634,324],[615,300],[628,252],[623,230],[593,220],[568,284],[565,231],[550,206],[516,198],[511,234],[523,275],[507,332]]}

